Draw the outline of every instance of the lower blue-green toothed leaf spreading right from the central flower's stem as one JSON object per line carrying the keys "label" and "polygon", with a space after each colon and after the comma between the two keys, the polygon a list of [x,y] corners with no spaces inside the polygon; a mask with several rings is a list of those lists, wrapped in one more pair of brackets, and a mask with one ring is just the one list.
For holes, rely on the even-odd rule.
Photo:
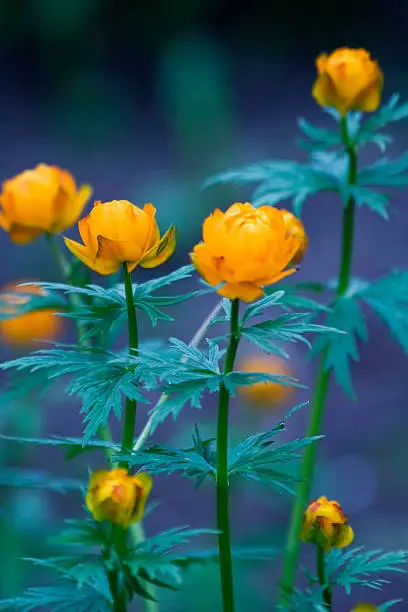
{"label": "lower blue-green toothed leaf spreading right from the central flower's stem", "polygon": [[[291,468],[302,457],[302,449],[322,436],[296,439],[280,446],[275,445],[274,438],[285,429],[287,419],[302,406],[304,404],[294,408],[270,431],[252,435],[232,449],[228,455],[229,476],[242,476],[271,486],[279,493],[285,491],[294,495],[293,487],[299,479]],[[285,467],[289,469],[285,471]]]}

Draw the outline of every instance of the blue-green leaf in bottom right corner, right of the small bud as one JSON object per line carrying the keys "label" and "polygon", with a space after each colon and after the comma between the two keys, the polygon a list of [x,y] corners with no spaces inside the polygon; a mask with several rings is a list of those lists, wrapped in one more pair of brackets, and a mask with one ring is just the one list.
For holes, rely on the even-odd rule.
{"label": "blue-green leaf in bottom right corner, right of the small bud", "polygon": [[326,557],[327,581],[343,587],[347,593],[355,585],[381,589],[389,580],[382,578],[386,572],[405,573],[401,567],[408,562],[408,551],[365,551],[363,547],[346,551],[332,550]]}

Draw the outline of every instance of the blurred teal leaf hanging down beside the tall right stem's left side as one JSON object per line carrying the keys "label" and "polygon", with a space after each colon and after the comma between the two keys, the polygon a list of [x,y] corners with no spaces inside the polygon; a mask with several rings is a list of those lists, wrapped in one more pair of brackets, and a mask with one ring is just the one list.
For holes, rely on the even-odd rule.
{"label": "blurred teal leaf hanging down beside the tall right stem's left side", "polygon": [[367,341],[364,317],[355,296],[336,300],[326,318],[328,326],[342,329],[344,334],[322,335],[314,345],[312,354],[322,353],[326,371],[333,369],[335,378],[345,393],[354,398],[350,374],[350,360],[358,361],[357,339]]}

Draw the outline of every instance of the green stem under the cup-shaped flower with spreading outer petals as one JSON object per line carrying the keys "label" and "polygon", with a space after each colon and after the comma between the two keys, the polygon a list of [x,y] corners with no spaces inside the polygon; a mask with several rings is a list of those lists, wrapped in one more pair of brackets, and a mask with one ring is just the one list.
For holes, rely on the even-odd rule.
{"label": "green stem under the cup-shaped flower with spreading outer petals", "polygon": [[[139,336],[137,331],[137,318],[135,302],[133,299],[133,285],[132,278],[127,269],[127,264],[123,264],[123,276],[125,281],[125,294],[126,294],[126,306],[128,314],[128,329],[129,329],[129,352],[131,355],[137,355],[139,346]],[[132,450],[133,447],[133,436],[135,433],[136,425],[136,400],[126,398],[125,403],[125,420],[123,425],[122,435],[122,452]],[[122,467],[127,468],[127,462],[124,461],[121,464]]]}

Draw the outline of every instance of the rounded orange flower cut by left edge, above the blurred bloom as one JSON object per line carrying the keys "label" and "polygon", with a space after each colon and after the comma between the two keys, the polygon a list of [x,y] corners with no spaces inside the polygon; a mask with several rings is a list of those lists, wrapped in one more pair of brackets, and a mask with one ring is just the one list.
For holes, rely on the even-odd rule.
{"label": "rounded orange flower cut by left edge, above the blurred bloom", "polygon": [[0,227],[17,244],[44,232],[58,234],[77,221],[90,195],[91,188],[77,189],[66,170],[39,164],[3,182]]}

